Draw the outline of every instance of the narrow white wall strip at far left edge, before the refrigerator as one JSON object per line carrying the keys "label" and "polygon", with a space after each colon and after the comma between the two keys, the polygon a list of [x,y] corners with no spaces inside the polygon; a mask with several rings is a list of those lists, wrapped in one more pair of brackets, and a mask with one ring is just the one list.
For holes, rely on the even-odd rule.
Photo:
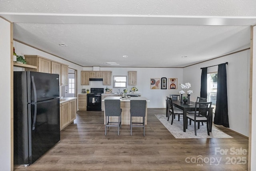
{"label": "narrow white wall strip at far left edge, before the refrigerator", "polygon": [[0,18],[0,170],[11,170],[10,23]]}

